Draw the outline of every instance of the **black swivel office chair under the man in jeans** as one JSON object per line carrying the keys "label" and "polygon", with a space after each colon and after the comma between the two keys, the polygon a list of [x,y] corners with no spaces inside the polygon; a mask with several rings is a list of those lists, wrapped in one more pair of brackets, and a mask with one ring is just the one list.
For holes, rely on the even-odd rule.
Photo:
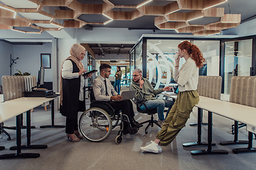
{"label": "black swivel office chair under the man in jeans", "polygon": [[[137,111],[138,111],[139,113],[146,113],[146,114],[148,114],[148,115],[151,115],[151,118],[150,118],[149,120],[146,120],[146,121],[140,123],[140,124],[149,123],[149,124],[146,126],[146,129],[145,129],[145,133],[146,133],[146,134],[148,133],[147,129],[149,128],[149,125],[151,125],[151,127],[153,127],[154,124],[156,124],[156,125],[159,126],[159,128],[161,128],[161,125],[159,125],[158,121],[157,121],[157,120],[154,120],[154,114],[157,113],[156,108],[147,108],[144,101],[139,101],[139,102],[135,102],[135,103],[136,103],[136,106],[137,106]],[[142,110],[142,109],[139,108],[139,106],[142,106],[142,105],[145,106],[145,108],[146,108],[145,110]]]}

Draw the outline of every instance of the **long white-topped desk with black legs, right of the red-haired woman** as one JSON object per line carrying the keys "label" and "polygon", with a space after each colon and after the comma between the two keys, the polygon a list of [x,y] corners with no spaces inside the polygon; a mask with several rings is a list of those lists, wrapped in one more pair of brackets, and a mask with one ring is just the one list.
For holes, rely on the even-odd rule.
{"label": "long white-topped desk with black legs, right of the red-haired woman", "polygon": [[[165,94],[166,95],[166,94]],[[176,96],[168,95],[171,98]],[[249,128],[249,143],[247,148],[233,149],[234,153],[240,152],[256,152],[255,148],[252,148],[252,132],[255,132],[256,128],[256,108],[250,106],[244,106],[236,103],[230,103],[227,101],[220,101],[213,98],[207,98],[200,96],[199,103],[196,105],[197,108],[208,111],[208,143],[202,145],[208,145],[208,149],[201,151],[192,151],[191,154],[228,154],[223,150],[212,150],[212,113],[221,115],[225,118],[236,120],[248,125]],[[199,109],[198,109],[199,111]],[[201,113],[198,112],[198,118]],[[200,120],[198,120],[198,125]],[[198,128],[199,130],[199,128]],[[199,133],[198,133],[199,134]],[[201,136],[200,136],[201,137]],[[200,141],[201,142],[201,141]]]}

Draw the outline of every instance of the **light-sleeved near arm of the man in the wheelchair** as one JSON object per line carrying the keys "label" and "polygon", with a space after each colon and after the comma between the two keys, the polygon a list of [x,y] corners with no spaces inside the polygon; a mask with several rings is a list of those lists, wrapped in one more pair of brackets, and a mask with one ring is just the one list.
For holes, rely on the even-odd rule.
{"label": "light-sleeved near arm of the man in the wheelchair", "polygon": [[105,94],[101,94],[101,89],[105,86],[99,79],[95,79],[92,83],[93,93],[95,95],[96,101],[110,101],[110,96],[106,96]]}

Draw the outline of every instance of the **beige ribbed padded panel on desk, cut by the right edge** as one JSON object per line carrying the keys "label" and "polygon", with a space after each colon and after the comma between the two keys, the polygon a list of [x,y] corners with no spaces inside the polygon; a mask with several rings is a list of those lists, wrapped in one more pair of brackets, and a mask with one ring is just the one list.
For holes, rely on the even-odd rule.
{"label": "beige ribbed padded panel on desk, cut by the right edge", "polygon": [[232,77],[230,102],[256,107],[256,77]]}

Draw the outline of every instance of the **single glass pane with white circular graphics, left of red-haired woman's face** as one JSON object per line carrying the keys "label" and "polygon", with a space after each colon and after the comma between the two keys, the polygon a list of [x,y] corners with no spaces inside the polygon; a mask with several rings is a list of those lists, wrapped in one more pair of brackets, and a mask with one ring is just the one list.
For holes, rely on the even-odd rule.
{"label": "single glass pane with white circular graphics, left of red-haired woman's face", "polygon": [[[178,52],[178,44],[183,40],[147,40],[146,41],[146,78],[155,89],[159,86],[175,84],[174,55]],[[180,60],[182,65],[185,60]]]}

